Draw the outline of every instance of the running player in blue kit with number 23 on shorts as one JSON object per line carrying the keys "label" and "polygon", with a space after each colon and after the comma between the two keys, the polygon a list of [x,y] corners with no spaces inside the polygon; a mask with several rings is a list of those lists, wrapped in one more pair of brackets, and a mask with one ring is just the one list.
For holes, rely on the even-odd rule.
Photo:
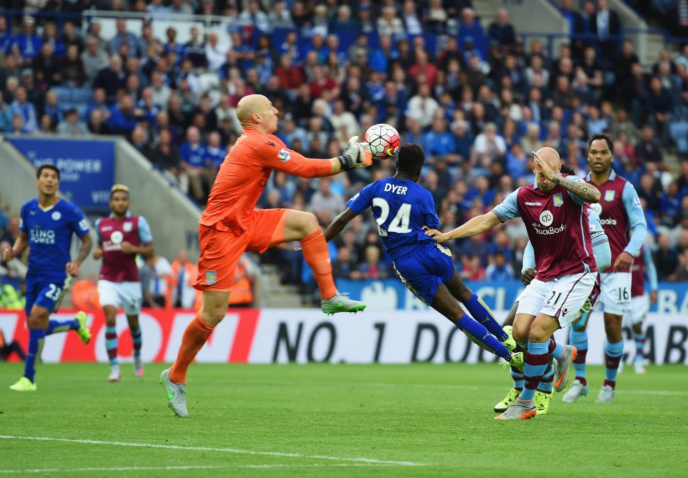
{"label": "running player in blue kit with number 23 on shorts", "polygon": [[[26,274],[26,317],[29,329],[29,350],[24,376],[10,389],[35,391],[36,360],[41,357],[45,336],[74,330],[88,343],[91,332],[86,327],[86,314],[79,312],[70,321],[50,320],[58,307],[69,276],[79,274],[79,265],[88,257],[93,245],[89,228],[81,211],[74,204],[57,195],[60,171],[52,164],[43,164],[36,171],[39,197],[21,206],[21,234],[12,249],[3,252],[3,260],[10,261],[29,246]],[[72,234],[81,239],[78,257],[72,261],[69,246]]]}

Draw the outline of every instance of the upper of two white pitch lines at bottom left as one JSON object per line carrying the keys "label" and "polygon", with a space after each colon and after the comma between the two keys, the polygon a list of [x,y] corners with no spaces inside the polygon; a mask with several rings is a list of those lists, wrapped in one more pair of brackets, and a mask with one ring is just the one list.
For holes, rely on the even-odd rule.
{"label": "upper of two white pitch lines at bottom left", "polygon": [[303,455],[301,453],[282,453],[279,451],[255,451],[239,450],[238,448],[215,448],[211,446],[182,446],[182,445],[163,445],[157,443],[133,443],[133,442],[105,442],[102,440],[77,439],[77,438],[52,438],[52,437],[19,437],[14,435],[0,435],[0,439],[25,439],[36,442],[67,442],[83,443],[89,445],[111,445],[111,446],[137,446],[141,448],[163,448],[165,450],[197,450],[197,451],[217,451],[220,453],[237,453],[239,455],[265,455],[270,457],[287,458],[306,458],[306,459],[327,459],[334,461],[353,461],[359,463],[396,465],[396,466],[427,466],[428,463],[418,463],[416,461],[395,461],[375,458],[356,458],[356,457],[330,457],[325,455]]}

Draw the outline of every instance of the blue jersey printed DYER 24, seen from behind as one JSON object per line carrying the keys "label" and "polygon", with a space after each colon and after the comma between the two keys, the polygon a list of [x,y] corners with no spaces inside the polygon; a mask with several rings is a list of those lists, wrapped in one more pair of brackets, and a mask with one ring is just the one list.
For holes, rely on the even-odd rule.
{"label": "blue jersey printed DYER 24, seen from behind", "polygon": [[372,207],[378,234],[392,259],[421,242],[434,241],[425,235],[423,226],[440,227],[432,195],[411,180],[385,177],[361,189],[347,206],[356,214]]}

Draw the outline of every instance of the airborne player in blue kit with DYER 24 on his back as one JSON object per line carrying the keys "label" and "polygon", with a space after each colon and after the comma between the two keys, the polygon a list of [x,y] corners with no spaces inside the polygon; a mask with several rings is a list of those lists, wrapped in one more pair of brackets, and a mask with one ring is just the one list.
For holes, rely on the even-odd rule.
{"label": "airborne player in blue kit with DYER 24 on his back", "polygon": [[[418,144],[401,147],[396,174],[365,186],[325,230],[330,241],[367,208],[372,207],[378,234],[400,279],[421,301],[447,317],[486,350],[523,369],[523,354],[495,321],[491,310],[463,283],[451,252],[423,232],[440,219],[432,195],[417,184],[425,155]],[[459,305],[473,316],[466,315]],[[474,320],[475,319],[475,320]]]}

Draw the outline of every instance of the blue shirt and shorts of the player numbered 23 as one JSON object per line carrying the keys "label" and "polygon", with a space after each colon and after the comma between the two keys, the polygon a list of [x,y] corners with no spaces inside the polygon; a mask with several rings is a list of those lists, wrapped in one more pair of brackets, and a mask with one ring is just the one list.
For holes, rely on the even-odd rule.
{"label": "blue shirt and shorts of the player numbered 23", "polygon": [[60,199],[50,208],[42,208],[38,199],[21,206],[21,232],[27,235],[29,251],[26,275],[26,311],[39,305],[52,310],[65,285],[65,266],[72,246],[72,234],[89,233],[83,213],[74,204]]}

